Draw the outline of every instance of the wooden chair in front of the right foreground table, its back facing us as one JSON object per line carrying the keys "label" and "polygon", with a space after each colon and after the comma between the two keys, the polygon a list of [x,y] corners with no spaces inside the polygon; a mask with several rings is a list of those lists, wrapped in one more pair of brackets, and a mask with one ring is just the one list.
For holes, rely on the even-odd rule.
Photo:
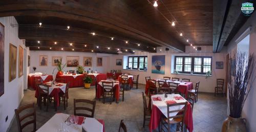
{"label": "wooden chair in front of the right foreground table, its back facing us", "polygon": [[[177,109],[170,111],[170,107],[177,107],[178,105],[185,105],[181,109]],[[180,106],[181,107],[181,106]],[[184,115],[186,113],[186,108],[187,108],[187,102],[183,103],[173,103],[173,104],[167,104],[167,118],[164,118],[161,120],[160,124],[160,130],[164,131],[167,129],[167,131],[170,131],[170,125],[171,124],[176,124],[176,131],[183,131],[184,130]],[[177,113],[175,116],[170,116],[172,113]],[[167,126],[166,126],[167,124]],[[163,128],[164,126],[165,128]]]}

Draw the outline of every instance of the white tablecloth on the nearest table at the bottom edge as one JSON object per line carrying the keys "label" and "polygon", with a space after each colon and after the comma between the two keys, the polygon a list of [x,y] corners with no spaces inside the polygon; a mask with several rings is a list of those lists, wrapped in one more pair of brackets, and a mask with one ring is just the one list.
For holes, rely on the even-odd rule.
{"label": "white tablecloth on the nearest table at the bottom edge", "polygon": [[[42,125],[37,132],[45,132],[45,131],[59,131],[61,127],[61,122],[65,122],[70,115],[63,114],[63,113],[57,113],[55,114],[49,121],[47,121],[44,125]],[[66,125],[66,124],[65,124]],[[86,120],[84,120],[84,123],[81,125],[77,125],[74,128],[74,124],[71,124],[68,126],[69,131],[72,132],[81,132],[82,127],[86,128],[88,132],[102,132],[103,131],[103,125],[96,120],[95,118],[89,118],[87,117]]]}

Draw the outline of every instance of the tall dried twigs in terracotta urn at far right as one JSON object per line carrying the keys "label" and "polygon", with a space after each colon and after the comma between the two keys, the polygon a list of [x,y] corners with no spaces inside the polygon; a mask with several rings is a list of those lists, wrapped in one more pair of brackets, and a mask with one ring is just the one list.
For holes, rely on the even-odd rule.
{"label": "tall dried twigs in terracotta urn at far right", "polygon": [[223,122],[224,131],[246,131],[245,119],[241,118],[245,100],[253,88],[255,79],[255,56],[242,52],[234,52],[228,63],[228,108],[229,116]]}

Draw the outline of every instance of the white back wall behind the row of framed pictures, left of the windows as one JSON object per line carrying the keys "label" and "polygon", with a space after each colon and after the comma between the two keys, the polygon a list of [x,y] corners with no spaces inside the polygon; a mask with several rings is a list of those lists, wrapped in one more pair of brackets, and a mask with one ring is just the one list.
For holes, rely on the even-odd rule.
{"label": "white back wall behind the row of framed pictures, left of the windows", "polygon": [[[48,56],[48,65],[47,66],[39,66],[39,56],[40,55],[47,55]],[[30,73],[33,73],[33,67],[36,67],[36,72],[42,72],[47,74],[52,74],[54,68],[56,66],[52,66],[52,57],[53,56],[60,56],[62,57],[62,63],[67,62],[67,56],[79,56],[79,65],[83,65],[83,57],[92,57],[93,64],[92,67],[85,67],[87,69],[93,69],[93,71],[97,70],[99,73],[106,73],[107,68],[109,67],[108,54],[97,54],[97,53],[84,53],[84,52],[66,52],[66,51],[30,51]],[[97,67],[96,59],[97,57],[102,57],[102,67]],[[63,71],[67,72],[67,70],[76,70],[76,67],[65,67]],[[57,73],[57,69],[54,70],[54,78]]]}

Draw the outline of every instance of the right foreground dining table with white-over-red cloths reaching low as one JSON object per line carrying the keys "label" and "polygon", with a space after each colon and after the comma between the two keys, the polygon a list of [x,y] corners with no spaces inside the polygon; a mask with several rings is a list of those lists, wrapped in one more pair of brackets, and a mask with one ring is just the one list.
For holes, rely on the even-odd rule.
{"label": "right foreground dining table with white-over-red cloths reaching low", "polygon": [[[150,131],[153,131],[158,128],[161,122],[161,117],[164,116],[167,118],[167,102],[168,101],[173,101],[175,103],[181,103],[181,102],[187,102],[186,99],[184,99],[181,95],[179,94],[167,94],[167,97],[165,98],[164,94],[161,95],[152,95],[151,96],[151,108],[152,108],[152,113],[151,113],[151,119],[150,119]],[[177,109],[183,108],[185,105],[176,105],[169,107],[169,111],[175,111]],[[178,112],[176,113],[170,113],[169,116],[175,116],[177,115]],[[188,131],[193,131],[193,114],[191,110],[191,104],[188,102],[187,107],[186,107],[186,112],[184,114],[184,124],[185,128],[188,129]]]}

